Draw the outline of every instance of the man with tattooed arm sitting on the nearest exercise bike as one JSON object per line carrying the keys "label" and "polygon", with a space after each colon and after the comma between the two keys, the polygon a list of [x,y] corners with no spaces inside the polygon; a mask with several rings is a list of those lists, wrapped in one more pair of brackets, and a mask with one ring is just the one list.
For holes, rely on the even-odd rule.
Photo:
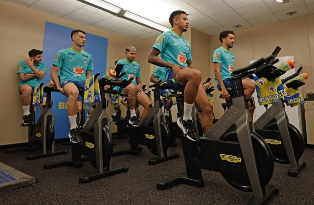
{"label": "man with tattooed arm sitting on the nearest exercise bike", "polygon": [[[186,138],[199,139],[195,123],[192,120],[192,107],[195,102],[202,110],[201,126],[206,133],[213,125],[213,106],[208,101],[202,81],[202,74],[192,64],[189,41],[182,37],[189,22],[184,11],[174,11],[169,17],[173,29],[160,34],[153,45],[148,62],[165,69],[164,77],[174,90],[184,92],[184,113],[178,119],[178,125]],[[158,55],[160,54],[160,58]]]}

